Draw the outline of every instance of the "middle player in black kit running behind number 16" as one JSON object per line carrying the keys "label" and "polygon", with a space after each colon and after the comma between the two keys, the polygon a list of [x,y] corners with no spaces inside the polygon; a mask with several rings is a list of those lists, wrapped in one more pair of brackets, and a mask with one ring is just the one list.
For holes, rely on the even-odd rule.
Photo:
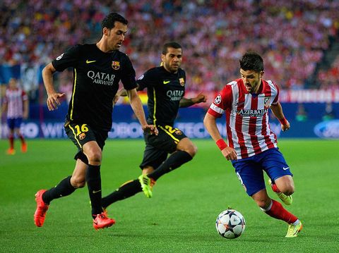
{"label": "middle player in black kit running behind number 16", "polygon": [[[126,199],[143,191],[152,197],[155,180],[169,171],[191,161],[197,148],[182,130],[174,128],[174,120],[179,107],[187,107],[206,101],[203,94],[192,99],[184,98],[186,74],[180,68],[182,47],[177,42],[169,42],[162,49],[162,66],[150,68],[137,80],[137,90],[147,87],[148,124],[157,126],[159,134],[145,132],[145,152],[141,162],[142,175],[131,180],[107,197],[102,198],[104,209],[114,202]],[[124,94],[124,92],[121,92]],[[167,155],[170,154],[167,158]]]}

